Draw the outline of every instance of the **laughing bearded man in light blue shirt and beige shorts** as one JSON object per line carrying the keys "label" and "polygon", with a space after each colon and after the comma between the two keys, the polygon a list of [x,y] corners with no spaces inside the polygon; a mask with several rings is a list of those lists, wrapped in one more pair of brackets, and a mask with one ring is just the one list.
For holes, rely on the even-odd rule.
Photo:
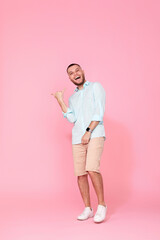
{"label": "laughing bearded man in light blue shirt and beige shorts", "polygon": [[74,124],[72,128],[74,172],[85,205],[84,211],[77,219],[85,220],[94,216],[90,203],[89,174],[98,198],[94,222],[102,222],[107,212],[103,179],[99,170],[106,140],[103,125],[105,90],[99,82],[86,81],[84,71],[77,63],[72,63],[67,67],[67,74],[71,82],[77,86],[69,98],[69,107],[63,100],[65,89],[53,95],[62,109],[63,116]]}

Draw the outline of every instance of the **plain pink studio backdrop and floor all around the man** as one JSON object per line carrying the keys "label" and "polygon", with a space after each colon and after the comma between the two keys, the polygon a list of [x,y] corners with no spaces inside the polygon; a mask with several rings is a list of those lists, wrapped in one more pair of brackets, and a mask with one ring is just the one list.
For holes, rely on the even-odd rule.
{"label": "plain pink studio backdrop and floor all around the man", "polygon": [[[159,239],[160,2],[6,0],[0,9],[3,239]],[[101,172],[108,218],[98,226],[76,220],[84,205],[72,124],[51,95],[66,87],[68,103],[72,62],[107,96]]]}

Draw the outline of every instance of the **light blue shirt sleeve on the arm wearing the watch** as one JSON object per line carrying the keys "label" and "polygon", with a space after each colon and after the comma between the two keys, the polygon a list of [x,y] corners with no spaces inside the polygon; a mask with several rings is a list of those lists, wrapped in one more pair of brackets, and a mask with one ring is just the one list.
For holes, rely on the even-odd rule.
{"label": "light blue shirt sleeve on the arm wearing the watch", "polygon": [[106,93],[103,86],[99,82],[93,85],[94,95],[94,111],[92,121],[103,121],[106,103]]}

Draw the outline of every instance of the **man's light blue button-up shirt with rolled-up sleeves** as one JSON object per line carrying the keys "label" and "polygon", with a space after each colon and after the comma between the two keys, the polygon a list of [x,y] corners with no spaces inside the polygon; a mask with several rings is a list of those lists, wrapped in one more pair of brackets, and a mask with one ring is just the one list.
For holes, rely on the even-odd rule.
{"label": "man's light blue button-up shirt with rolled-up sleeves", "polygon": [[103,125],[103,116],[105,112],[106,94],[99,82],[86,81],[83,89],[76,89],[69,97],[69,107],[63,116],[74,124],[72,128],[72,144],[81,143],[81,138],[86,132],[86,128],[91,121],[100,121],[91,133],[91,137],[104,137],[105,129]]}

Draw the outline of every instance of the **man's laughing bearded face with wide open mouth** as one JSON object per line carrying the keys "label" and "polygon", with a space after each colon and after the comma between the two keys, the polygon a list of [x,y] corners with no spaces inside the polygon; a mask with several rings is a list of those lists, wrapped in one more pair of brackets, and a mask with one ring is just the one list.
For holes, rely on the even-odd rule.
{"label": "man's laughing bearded face with wide open mouth", "polygon": [[78,65],[73,65],[68,68],[69,79],[77,86],[83,85],[85,82],[84,71]]}

